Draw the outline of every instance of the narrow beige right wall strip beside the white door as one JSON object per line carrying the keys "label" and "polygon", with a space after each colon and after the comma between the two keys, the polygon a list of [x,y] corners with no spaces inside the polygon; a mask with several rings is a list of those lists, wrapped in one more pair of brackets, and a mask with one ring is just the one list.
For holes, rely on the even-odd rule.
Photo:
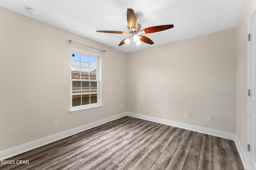
{"label": "narrow beige right wall strip beside the white door", "polygon": [[247,21],[256,0],[247,0],[236,26],[236,135],[247,153]]}

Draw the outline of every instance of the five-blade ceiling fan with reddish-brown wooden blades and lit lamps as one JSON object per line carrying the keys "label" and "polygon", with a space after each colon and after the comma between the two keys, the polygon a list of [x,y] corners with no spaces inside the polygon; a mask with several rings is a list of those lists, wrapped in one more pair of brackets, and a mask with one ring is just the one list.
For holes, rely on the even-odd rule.
{"label": "five-blade ceiling fan with reddish-brown wooden blades and lit lamps", "polygon": [[131,36],[128,36],[124,40],[122,40],[122,42],[120,42],[118,46],[121,46],[124,43],[128,45],[132,39],[138,46],[141,44],[141,41],[148,44],[153,44],[154,42],[146,36],[142,36],[142,35],[138,36],[137,34],[140,34],[140,33],[148,34],[153,32],[159,32],[159,31],[168,30],[174,27],[173,25],[162,25],[162,26],[148,27],[141,30],[141,25],[137,23],[137,18],[138,18],[138,15],[134,13],[133,9],[128,8],[127,9],[128,26],[126,26],[128,32],[122,32],[122,31],[96,31],[96,32],[113,33],[113,34],[131,34]]}

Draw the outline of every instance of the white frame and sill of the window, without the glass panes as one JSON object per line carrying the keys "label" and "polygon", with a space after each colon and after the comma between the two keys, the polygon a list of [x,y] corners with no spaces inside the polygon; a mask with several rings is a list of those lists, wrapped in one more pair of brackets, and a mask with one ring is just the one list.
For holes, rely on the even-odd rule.
{"label": "white frame and sill of the window, without the glass panes", "polygon": [[[96,57],[97,58],[97,70],[96,70],[96,79],[72,79],[71,78],[71,53],[78,53],[80,55],[86,55],[89,57]],[[88,105],[80,105],[80,106],[72,106],[72,81],[96,81],[97,83],[97,103],[88,104]],[[89,53],[86,51],[82,51],[79,49],[71,48],[70,50],[70,113],[76,113],[80,111],[86,111],[89,109],[95,109],[102,107],[101,103],[101,55]]]}

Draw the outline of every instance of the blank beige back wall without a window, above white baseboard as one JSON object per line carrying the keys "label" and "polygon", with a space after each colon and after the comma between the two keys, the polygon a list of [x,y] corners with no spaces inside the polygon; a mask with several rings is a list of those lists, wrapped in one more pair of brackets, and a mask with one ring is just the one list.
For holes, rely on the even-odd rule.
{"label": "blank beige back wall without a window, above white baseboard", "polygon": [[129,53],[127,110],[235,133],[236,29]]}

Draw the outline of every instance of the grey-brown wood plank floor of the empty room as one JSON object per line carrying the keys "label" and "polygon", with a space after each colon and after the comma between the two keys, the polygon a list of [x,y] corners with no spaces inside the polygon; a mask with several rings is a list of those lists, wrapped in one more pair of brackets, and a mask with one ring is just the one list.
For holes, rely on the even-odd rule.
{"label": "grey-brown wood plank floor of the empty room", "polygon": [[19,154],[1,170],[243,170],[234,141],[133,117]]}

